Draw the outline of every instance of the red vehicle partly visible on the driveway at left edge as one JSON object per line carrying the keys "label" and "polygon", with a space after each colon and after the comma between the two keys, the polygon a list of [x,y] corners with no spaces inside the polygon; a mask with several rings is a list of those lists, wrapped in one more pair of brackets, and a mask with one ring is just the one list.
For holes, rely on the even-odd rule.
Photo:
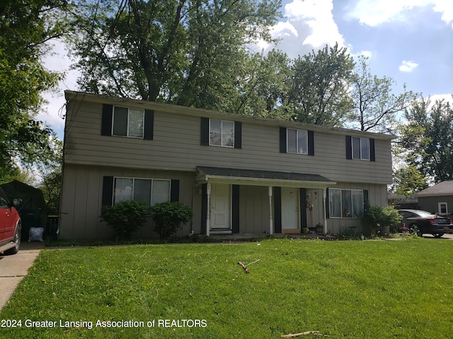
{"label": "red vehicle partly visible on the driveway at left edge", "polygon": [[0,188],[0,254],[16,254],[21,246],[21,217],[14,208],[21,202],[16,198],[10,203]]}

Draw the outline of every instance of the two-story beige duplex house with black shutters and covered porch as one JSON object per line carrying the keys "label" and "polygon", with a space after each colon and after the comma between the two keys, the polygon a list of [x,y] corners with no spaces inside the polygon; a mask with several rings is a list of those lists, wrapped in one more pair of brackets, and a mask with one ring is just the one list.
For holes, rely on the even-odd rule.
{"label": "two-story beige duplex house with black shutters and covered porch", "polygon": [[[195,234],[360,231],[386,206],[392,136],[66,92],[60,237],[110,237],[101,206],[180,201]],[[136,237],[156,237],[152,218]],[[311,230],[314,230],[312,228]]]}

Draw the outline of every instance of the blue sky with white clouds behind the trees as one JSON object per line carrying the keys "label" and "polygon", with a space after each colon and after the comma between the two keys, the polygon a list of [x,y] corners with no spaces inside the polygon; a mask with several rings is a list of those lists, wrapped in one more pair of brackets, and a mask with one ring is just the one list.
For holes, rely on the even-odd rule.
{"label": "blue sky with white clouds behind the trees", "polygon": [[[317,51],[326,44],[347,47],[353,57],[365,54],[373,74],[393,78],[394,90],[408,90],[431,96],[453,93],[453,1],[452,0],[284,0],[282,18],[273,27],[280,37],[276,47],[292,59]],[[265,50],[275,46],[260,44]],[[46,121],[63,138],[64,120],[58,111],[64,105],[63,91],[77,90],[76,71],[62,44],[45,65],[66,71],[67,78],[56,93],[48,93]]]}

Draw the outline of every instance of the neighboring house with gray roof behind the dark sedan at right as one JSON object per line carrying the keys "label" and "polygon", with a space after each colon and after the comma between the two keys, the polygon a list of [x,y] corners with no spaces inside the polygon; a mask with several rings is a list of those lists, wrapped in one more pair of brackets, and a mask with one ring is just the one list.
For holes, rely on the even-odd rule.
{"label": "neighboring house with gray roof behind the dark sedan at right", "polygon": [[418,206],[422,210],[448,215],[453,213],[453,180],[440,182],[416,194]]}

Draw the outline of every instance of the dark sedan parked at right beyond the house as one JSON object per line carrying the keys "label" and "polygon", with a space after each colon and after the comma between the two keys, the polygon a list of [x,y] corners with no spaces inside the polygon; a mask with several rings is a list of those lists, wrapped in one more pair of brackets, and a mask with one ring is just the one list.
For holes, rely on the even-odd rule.
{"label": "dark sedan parked at right beyond the house", "polygon": [[435,215],[425,210],[398,210],[403,215],[402,229],[421,237],[430,233],[435,237],[442,237],[445,233],[453,234],[453,222],[448,217]]}

